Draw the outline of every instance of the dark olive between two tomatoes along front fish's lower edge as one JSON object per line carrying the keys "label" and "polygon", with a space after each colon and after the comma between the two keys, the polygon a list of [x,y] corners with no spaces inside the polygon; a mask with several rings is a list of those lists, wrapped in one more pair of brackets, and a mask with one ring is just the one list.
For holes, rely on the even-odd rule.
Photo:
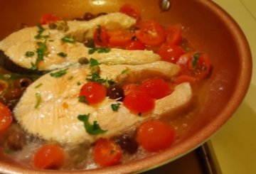
{"label": "dark olive between two tomatoes along front fish's lower edge", "polygon": [[123,151],[126,151],[130,154],[135,153],[139,147],[135,138],[129,134],[120,136],[116,139],[116,142],[119,144]]}

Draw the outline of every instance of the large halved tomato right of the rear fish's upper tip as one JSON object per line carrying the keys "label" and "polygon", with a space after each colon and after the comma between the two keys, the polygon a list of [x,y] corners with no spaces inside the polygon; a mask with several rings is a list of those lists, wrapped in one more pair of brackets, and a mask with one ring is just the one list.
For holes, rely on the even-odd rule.
{"label": "large halved tomato right of the rear fish's upper tip", "polygon": [[139,41],[149,46],[157,46],[164,42],[164,28],[157,21],[139,21],[136,36]]}

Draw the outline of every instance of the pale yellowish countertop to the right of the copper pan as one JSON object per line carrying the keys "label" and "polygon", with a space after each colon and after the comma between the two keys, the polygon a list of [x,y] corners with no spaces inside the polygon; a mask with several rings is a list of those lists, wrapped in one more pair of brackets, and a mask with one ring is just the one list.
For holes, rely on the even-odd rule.
{"label": "pale yellowish countertop to the right of the copper pan", "polygon": [[[213,0],[245,33],[256,62],[256,0]],[[255,64],[254,64],[255,65]],[[256,67],[248,93],[233,117],[211,139],[223,174],[256,173]]]}

